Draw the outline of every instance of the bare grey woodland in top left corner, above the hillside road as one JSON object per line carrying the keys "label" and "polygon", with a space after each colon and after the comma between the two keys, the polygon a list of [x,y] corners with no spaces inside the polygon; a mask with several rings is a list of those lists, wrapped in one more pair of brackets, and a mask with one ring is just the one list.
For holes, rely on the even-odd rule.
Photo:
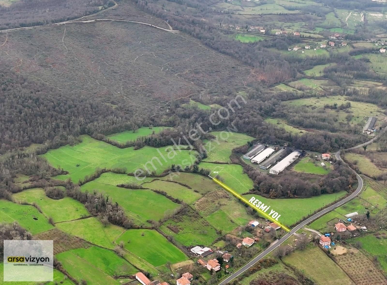
{"label": "bare grey woodland in top left corner, above the hillside road", "polygon": [[12,29],[62,22],[93,14],[109,0],[20,0],[9,7],[0,5],[0,29]]}

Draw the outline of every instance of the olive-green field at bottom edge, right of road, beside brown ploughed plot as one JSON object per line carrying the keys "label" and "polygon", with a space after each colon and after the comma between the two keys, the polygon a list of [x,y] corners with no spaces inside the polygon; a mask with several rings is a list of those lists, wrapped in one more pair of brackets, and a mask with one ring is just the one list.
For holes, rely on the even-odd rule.
{"label": "olive-green field at bottom edge, right of road, beside brown ploughed plot", "polygon": [[[315,266],[316,260],[324,266]],[[296,250],[285,256],[283,261],[295,266],[316,284],[353,285],[346,273],[317,246],[310,245],[302,251]],[[332,274],[334,274],[334,278],[332,278]]]}

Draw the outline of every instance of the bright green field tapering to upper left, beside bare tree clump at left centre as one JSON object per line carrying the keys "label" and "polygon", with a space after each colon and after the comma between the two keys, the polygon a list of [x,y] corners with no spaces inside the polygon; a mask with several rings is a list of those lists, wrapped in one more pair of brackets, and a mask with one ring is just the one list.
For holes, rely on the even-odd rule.
{"label": "bright green field tapering to upper left, beside bare tree clump at left centre", "polygon": [[[146,222],[147,220],[158,221],[164,217],[167,210],[173,211],[180,207],[179,204],[172,202],[168,198],[155,193],[152,190],[133,190],[116,187],[99,183],[99,178],[82,185],[81,190],[88,190],[89,192],[98,190],[109,195],[112,202],[117,202],[123,207],[128,218],[132,219],[136,224],[148,225]],[[144,207],[146,207],[147,210],[144,210]]]}

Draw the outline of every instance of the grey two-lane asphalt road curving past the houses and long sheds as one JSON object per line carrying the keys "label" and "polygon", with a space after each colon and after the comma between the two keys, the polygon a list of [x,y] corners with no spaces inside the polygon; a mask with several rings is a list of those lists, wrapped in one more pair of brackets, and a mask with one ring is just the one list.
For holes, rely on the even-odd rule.
{"label": "grey two-lane asphalt road curving past the houses and long sheds", "polygon": [[[384,132],[385,130],[387,129],[387,127],[382,131]],[[373,142],[375,139],[377,139],[378,136],[375,136],[373,139],[371,139],[370,141],[367,141],[363,144],[359,144],[358,146],[354,146],[353,148],[349,148],[348,150],[351,150],[351,149],[355,149],[355,148],[361,148],[363,147],[364,145],[367,145],[367,144],[370,144],[371,142]],[[341,160],[341,157],[340,157],[340,151],[337,151],[337,153],[335,154],[336,156],[336,159],[338,160]],[[342,161],[344,163],[344,161]],[[348,197],[342,199],[341,201],[337,202],[336,204],[334,205],[331,205],[323,210],[321,210],[320,212],[314,214],[313,216],[309,217],[308,219],[306,219],[305,221],[301,222],[300,224],[298,224],[297,226],[295,226],[290,232],[288,232],[287,234],[285,234],[281,239],[277,240],[276,242],[272,243],[267,249],[265,249],[262,253],[260,253],[258,256],[256,256],[253,260],[251,260],[249,263],[247,263],[245,266],[243,266],[242,268],[240,268],[238,271],[236,271],[235,273],[233,273],[232,275],[230,275],[228,278],[224,279],[221,283],[219,283],[219,285],[223,285],[223,284],[227,284],[229,282],[231,282],[234,278],[238,277],[239,275],[241,275],[243,272],[245,272],[248,268],[250,268],[251,266],[253,266],[255,263],[257,263],[259,260],[261,260],[262,258],[264,258],[267,254],[269,254],[271,251],[273,251],[274,249],[276,249],[278,246],[280,246],[282,243],[284,243],[284,241],[286,241],[286,239],[290,238],[296,231],[298,231],[299,229],[301,229],[302,227],[306,226],[307,224],[309,224],[310,222],[314,221],[315,219],[321,217],[322,215],[326,214],[327,212],[330,212],[334,209],[336,209],[337,207],[340,207],[341,205],[345,204],[346,202],[348,202],[349,200],[352,200],[354,197],[356,197],[357,195],[359,195],[359,193],[361,192],[361,189],[363,189],[363,179],[361,179],[361,177],[356,173],[356,177],[358,178],[358,182],[359,182],[359,185],[358,185],[358,188],[351,194],[349,195]]]}

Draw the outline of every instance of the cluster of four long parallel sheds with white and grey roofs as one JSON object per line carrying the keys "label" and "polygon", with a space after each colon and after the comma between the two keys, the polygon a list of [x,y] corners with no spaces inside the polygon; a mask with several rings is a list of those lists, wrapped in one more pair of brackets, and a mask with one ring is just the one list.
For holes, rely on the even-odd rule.
{"label": "cluster of four long parallel sheds with white and grey roofs", "polygon": [[266,148],[264,144],[257,144],[252,150],[243,155],[243,158],[258,164],[262,170],[268,170],[271,167],[269,173],[278,175],[302,154],[300,150],[289,152],[290,149],[286,147],[281,149],[273,147]]}

